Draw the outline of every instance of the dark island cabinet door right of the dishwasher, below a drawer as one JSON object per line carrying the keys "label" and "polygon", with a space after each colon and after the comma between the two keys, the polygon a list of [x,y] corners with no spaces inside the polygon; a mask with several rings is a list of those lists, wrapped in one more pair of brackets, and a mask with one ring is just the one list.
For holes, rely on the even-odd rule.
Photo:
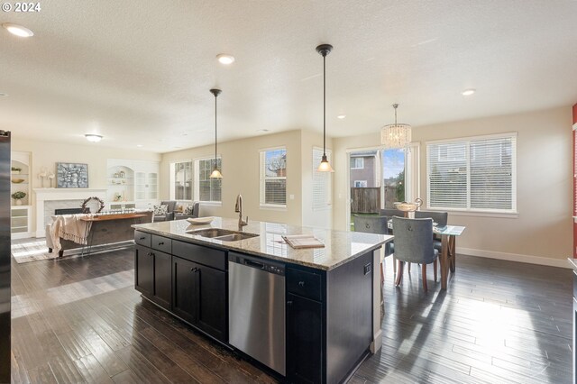
{"label": "dark island cabinet door right of the dishwasher, below a drawer", "polygon": [[323,325],[321,303],[287,294],[287,378],[322,382]]}

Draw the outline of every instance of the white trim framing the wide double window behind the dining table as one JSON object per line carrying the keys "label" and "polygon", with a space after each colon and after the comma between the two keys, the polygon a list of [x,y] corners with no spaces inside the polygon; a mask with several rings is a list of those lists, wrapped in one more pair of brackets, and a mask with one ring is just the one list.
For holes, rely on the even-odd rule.
{"label": "white trim framing the wide double window behind the dining table", "polygon": [[[441,207],[441,206],[429,206],[430,204],[430,186],[429,186],[429,162],[428,162],[428,146],[429,144],[443,144],[443,143],[450,143],[450,142],[472,142],[478,140],[490,140],[490,139],[503,139],[503,138],[514,138],[515,139],[515,159],[511,164],[511,190],[512,190],[512,197],[511,197],[511,206],[513,206],[510,210],[505,209],[482,209],[482,208],[455,208],[455,207]],[[440,139],[440,140],[431,140],[425,142],[425,150],[426,150],[426,209],[431,211],[443,211],[443,212],[451,212],[454,215],[468,215],[468,216],[486,216],[486,217],[517,217],[517,132],[509,132],[509,133],[495,133],[495,134],[485,134],[485,135],[477,135],[477,136],[466,136],[466,137],[458,137],[453,139]],[[470,159],[470,151],[467,150],[466,152],[466,160],[469,164]],[[467,177],[469,177],[470,167],[467,167]],[[467,200],[470,198],[470,193],[467,193]]]}

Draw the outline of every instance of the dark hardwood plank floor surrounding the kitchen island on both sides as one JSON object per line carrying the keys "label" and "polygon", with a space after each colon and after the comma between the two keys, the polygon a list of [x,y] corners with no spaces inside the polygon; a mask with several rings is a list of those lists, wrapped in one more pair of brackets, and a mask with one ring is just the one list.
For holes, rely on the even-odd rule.
{"label": "dark hardwood plank floor surrounding the kitchen island on both sides", "polygon": [[[351,383],[572,381],[571,270],[460,256],[425,294],[390,263],[383,347]],[[275,381],[143,301],[131,250],[12,266],[14,383]]]}

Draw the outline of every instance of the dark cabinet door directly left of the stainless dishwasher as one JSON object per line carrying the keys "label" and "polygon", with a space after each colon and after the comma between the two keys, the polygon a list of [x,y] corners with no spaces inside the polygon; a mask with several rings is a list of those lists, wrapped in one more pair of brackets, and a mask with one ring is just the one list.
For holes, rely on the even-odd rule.
{"label": "dark cabinet door directly left of the stainless dishwasher", "polygon": [[226,290],[226,273],[222,270],[202,266],[197,270],[197,279],[200,280],[197,325],[207,334],[227,342],[226,297],[228,292]]}

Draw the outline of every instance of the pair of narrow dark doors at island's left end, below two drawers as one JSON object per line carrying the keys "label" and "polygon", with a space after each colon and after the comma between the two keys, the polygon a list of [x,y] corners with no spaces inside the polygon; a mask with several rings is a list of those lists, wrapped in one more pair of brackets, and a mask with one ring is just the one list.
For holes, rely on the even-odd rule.
{"label": "pair of narrow dark doors at island's left end, below two drawers", "polygon": [[151,301],[169,309],[171,282],[171,256],[168,253],[136,245],[134,287]]}

